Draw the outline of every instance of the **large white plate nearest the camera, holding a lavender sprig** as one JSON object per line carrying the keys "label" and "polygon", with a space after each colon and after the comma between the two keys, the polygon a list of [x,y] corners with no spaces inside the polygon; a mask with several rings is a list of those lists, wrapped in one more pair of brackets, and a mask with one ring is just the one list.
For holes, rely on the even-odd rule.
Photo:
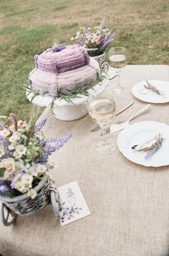
{"label": "large white plate nearest the camera, holding a lavender sprig", "polygon": [[[162,143],[162,147],[150,159],[145,159],[146,152],[138,152],[132,149],[132,146],[151,140],[158,133],[162,134],[162,138],[165,138],[165,141]],[[119,151],[136,164],[149,167],[169,165],[169,126],[167,124],[156,121],[143,121],[131,124],[120,132],[117,145],[119,146]]]}

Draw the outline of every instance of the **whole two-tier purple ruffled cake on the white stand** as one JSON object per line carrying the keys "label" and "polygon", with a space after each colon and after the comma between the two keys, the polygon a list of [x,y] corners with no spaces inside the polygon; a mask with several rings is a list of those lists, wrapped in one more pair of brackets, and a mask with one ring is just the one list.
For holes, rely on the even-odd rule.
{"label": "whole two-tier purple ruffled cake on the white stand", "polygon": [[29,74],[29,81],[40,94],[52,97],[58,91],[66,94],[68,90],[95,83],[98,79],[98,62],[79,45],[50,48],[34,58],[36,67]]}

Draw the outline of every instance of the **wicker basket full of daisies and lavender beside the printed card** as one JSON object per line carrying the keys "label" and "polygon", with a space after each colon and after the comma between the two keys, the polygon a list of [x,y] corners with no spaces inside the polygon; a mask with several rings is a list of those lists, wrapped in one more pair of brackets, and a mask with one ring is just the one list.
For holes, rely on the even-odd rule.
{"label": "wicker basket full of daisies and lavender beside the printed card", "polygon": [[[0,216],[10,225],[15,215],[34,214],[50,203],[52,177],[48,157],[58,150],[65,138],[44,138],[41,131],[47,118],[36,125],[17,121],[15,114],[0,116]],[[4,208],[12,215],[8,221]]]}

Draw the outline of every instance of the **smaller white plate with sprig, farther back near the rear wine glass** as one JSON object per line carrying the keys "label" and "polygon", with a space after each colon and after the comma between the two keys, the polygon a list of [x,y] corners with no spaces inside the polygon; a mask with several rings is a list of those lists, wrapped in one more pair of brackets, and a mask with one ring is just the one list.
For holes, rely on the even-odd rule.
{"label": "smaller white plate with sprig, farther back near the rear wine glass", "polygon": [[162,81],[162,80],[149,80],[153,86],[156,86],[157,89],[163,91],[165,96],[157,95],[153,91],[148,91],[148,94],[141,94],[140,90],[144,89],[144,84],[146,85],[146,81],[142,81],[140,83],[136,83],[133,86],[132,93],[133,95],[141,99],[144,102],[149,103],[166,103],[169,102],[169,82]]}

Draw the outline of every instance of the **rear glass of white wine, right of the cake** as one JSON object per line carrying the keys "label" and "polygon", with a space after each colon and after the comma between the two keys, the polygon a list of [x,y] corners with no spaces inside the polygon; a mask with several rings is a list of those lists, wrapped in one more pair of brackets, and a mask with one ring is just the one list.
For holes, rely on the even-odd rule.
{"label": "rear glass of white wine, right of the cake", "polygon": [[127,64],[126,49],[124,47],[114,47],[109,50],[109,64],[117,70],[119,83],[117,87],[113,89],[114,93],[121,94],[124,90],[120,83],[120,72],[122,67]]}

